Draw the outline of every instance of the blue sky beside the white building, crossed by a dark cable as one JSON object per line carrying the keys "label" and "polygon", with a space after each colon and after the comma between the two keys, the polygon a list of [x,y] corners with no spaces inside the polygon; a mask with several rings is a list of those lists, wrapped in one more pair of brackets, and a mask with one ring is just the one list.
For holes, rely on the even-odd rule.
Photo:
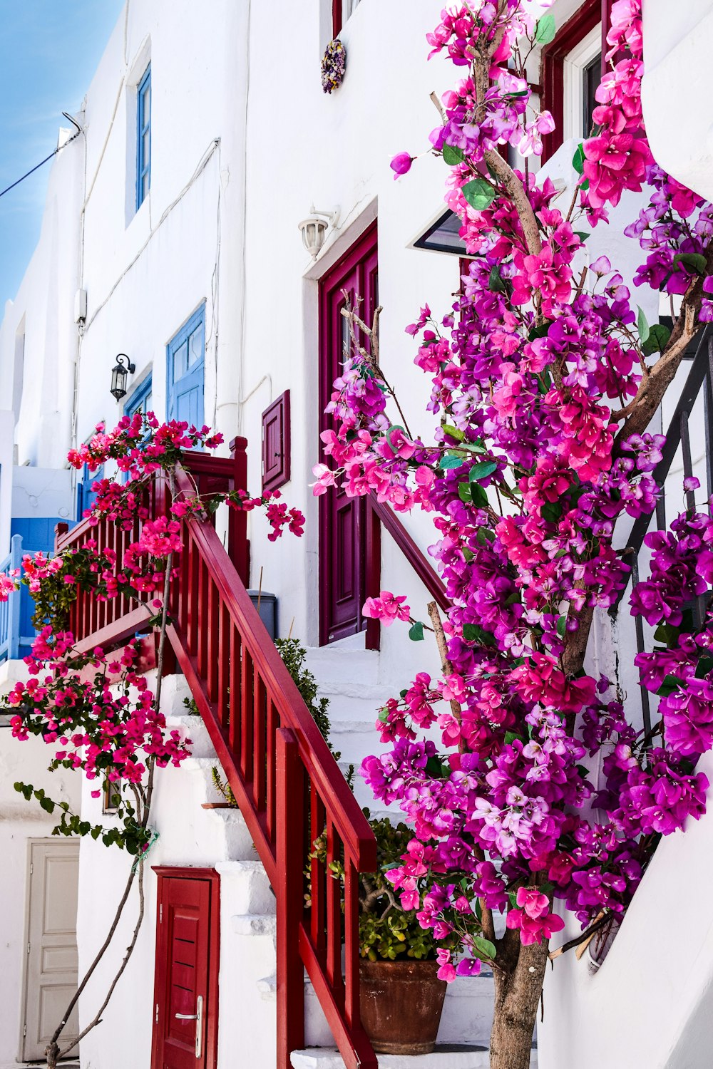
{"label": "blue sky beside the white building, crossed by a dark cable", "polygon": [[[123,0],[0,0],[0,189],[57,145]],[[0,319],[37,243],[51,164],[0,197]]]}

